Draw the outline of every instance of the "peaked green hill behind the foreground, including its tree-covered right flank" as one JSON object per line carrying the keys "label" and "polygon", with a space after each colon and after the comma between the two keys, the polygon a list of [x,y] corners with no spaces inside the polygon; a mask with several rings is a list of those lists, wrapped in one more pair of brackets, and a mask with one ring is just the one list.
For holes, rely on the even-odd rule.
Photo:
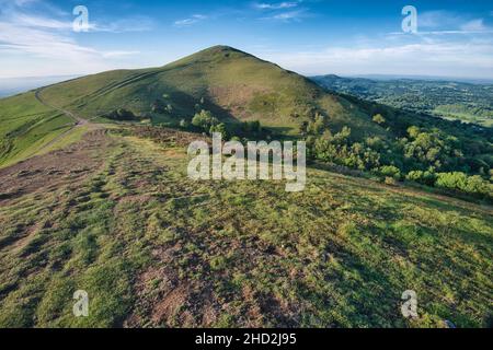
{"label": "peaked green hill behind the foreground, including its tree-covered right flank", "polygon": [[[227,46],[164,67],[103,72],[0,100],[0,165],[50,145],[74,122],[116,119],[182,128],[203,109],[225,122],[230,136],[245,137],[234,129],[259,120],[276,139],[306,139],[312,160],[493,198],[485,183],[493,168],[492,129],[333,93]],[[481,178],[462,180],[466,175]]]}

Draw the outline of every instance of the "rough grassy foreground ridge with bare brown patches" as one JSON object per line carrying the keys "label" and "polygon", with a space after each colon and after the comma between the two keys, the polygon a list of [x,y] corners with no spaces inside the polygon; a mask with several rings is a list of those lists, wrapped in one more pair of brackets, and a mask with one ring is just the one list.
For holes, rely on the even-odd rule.
{"label": "rough grassy foreground ridge with bare brown patches", "polygon": [[0,170],[0,327],[491,326],[490,207],[316,170],[298,194],[193,182],[181,137],[100,128]]}

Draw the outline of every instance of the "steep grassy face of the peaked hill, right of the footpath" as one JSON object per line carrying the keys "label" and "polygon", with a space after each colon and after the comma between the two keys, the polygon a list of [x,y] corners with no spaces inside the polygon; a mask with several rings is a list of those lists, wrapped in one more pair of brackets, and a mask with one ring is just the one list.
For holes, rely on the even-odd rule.
{"label": "steep grassy face of the peaked hill, right of the footpath", "polygon": [[[177,122],[204,108],[226,121],[257,119],[297,135],[299,125],[319,113],[335,130],[349,126],[356,135],[385,133],[356,105],[301,75],[225,46],[161,68],[76,79],[45,89],[43,96],[87,118],[126,108],[154,121]],[[167,113],[152,113],[156,104],[167,106]]]}

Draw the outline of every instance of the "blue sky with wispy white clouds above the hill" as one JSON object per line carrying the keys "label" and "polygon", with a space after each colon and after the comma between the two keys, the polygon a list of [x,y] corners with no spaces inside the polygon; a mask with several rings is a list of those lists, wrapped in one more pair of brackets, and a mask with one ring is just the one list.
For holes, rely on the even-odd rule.
{"label": "blue sky with wispy white clouds above the hill", "polygon": [[[89,32],[72,30],[76,5]],[[493,79],[493,2],[0,0],[0,78],[156,67],[218,44],[302,74]]]}

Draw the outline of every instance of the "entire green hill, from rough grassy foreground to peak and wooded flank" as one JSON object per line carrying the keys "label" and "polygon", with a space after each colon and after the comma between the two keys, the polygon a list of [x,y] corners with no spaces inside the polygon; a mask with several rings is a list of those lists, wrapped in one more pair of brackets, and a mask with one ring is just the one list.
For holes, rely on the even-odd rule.
{"label": "entire green hill, from rough grassy foreground to peak and wooded flank", "polygon": [[[302,192],[193,180],[197,133],[147,121],[202,109],[306,139],[321,166]],[[491,139],[229,47],[0,100],[0,327],[489,327]]]}

